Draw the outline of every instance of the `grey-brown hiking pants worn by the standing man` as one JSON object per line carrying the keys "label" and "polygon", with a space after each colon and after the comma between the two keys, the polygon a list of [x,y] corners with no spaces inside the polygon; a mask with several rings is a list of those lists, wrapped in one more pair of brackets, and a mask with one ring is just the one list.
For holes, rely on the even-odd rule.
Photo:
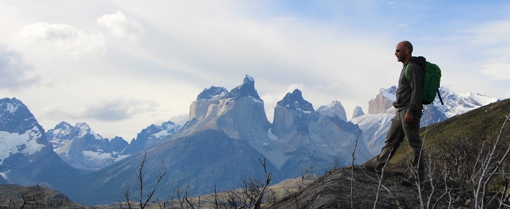
{"label": "grey-brown hiking pants worn by the standing man", "polygon": [[[417,168],[418,176],[423,178],[425,167],[420,139],[420,119],[422,113],[421,111],[417,111],[413,116],[413,122],[404,123],[406,112],[407,109],[403,109],[397,111],[395,114],[388,134],[386,135],[385,146],[382,148],[381,153],[377,155],[377,158],[372,161],[372,165],[378,169],[382,168],[386,164],[386,161],[389,162],[391,158],[393,158],[393,154],[395,154],[400,143],[402,143],[404,137],[406,137],[407,142],[409,142],[409,145],[414,150],[413,166]],[[411,177],[413,177],[413,175],[411,175]]]}

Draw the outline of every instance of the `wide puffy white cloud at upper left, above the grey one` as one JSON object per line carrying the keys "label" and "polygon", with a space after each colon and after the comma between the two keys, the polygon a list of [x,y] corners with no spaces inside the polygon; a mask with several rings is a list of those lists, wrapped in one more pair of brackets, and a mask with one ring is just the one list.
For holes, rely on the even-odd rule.
{"label": "wide puffy white cloud at upper left, above the grey one", "polygon": [[38,51],[39,54],[80,59],[84,55],[103,54],[103,34],[85,34],[67,24],[37,22],[22,27],[12,44],[21,51]]}

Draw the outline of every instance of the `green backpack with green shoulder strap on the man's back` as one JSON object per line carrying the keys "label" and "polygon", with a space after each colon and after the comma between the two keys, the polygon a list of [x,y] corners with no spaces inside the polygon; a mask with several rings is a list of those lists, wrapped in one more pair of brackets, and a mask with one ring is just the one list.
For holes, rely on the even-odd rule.
{"label": "green backpack with green shoulder strap on the man's back", "polygon": [[[412,62],[411,62],[412,63]],[[409,81],[409,73],[407,73],[407,69],[409,65],[405,66],[404,75],[405,79]],[[421,94],[421,102],[423,105],[428,105],[436,99],[436,93],[439,96],[439,100],[441,101],[441,105],[444,105],[443,99],[441,98],[441,94],[439,94],[439,83],[441,81],[441,69],[439,66],[430,62],[425,62],[424,65],[421,65],[423,68],[423,90]]]}

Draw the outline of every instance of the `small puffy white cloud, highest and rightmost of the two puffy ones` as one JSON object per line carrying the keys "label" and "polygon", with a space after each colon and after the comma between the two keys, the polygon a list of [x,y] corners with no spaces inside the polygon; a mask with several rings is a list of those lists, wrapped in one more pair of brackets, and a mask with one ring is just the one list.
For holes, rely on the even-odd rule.
{"label": "small puffy white cloud, highest and rightmost of the two puffy ones", "polygon": [[140,22],[131,16],[125,15],[122,11],[101,16],[97,19],[97,24],[105,27],[113,37],[126,38],[133,42],[136,42],[140,36],[145,34]]}

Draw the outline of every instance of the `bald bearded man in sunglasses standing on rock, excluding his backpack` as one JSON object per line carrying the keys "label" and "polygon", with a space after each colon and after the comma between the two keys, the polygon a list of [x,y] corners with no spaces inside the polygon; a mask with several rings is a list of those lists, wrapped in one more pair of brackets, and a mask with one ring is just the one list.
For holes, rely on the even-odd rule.
{"label": "bald bearded man in sunglasses standing on rock, excluding his backpack", "polygon": [[[393,154],[397,151],[404,137],[413,148],[414,160],[413,167],[417,173],[412,174],[409,179],[402,179],[401,183],[405,186],[414,185],[415,182],[421,183],[424,180],[424,163],[422,154],[422,142],[420,139],[420,119],[422,115],[422,85],[423,69],[421,65],[425,63],[423,57],[412,57],[413,45],[409,41],[402,41],[397,44],[395,56],[397,61],[403,64],[398,80],[396,101],[393,107],[397,109],[395,117],[391,123],[386,136],[385,146],[381,153],[372,161],[367,163],[368,170],[379,171],[391,160]],[[407,67],[409,80],[404,75]],[[418,178],[418,179],[417,179]]]}

